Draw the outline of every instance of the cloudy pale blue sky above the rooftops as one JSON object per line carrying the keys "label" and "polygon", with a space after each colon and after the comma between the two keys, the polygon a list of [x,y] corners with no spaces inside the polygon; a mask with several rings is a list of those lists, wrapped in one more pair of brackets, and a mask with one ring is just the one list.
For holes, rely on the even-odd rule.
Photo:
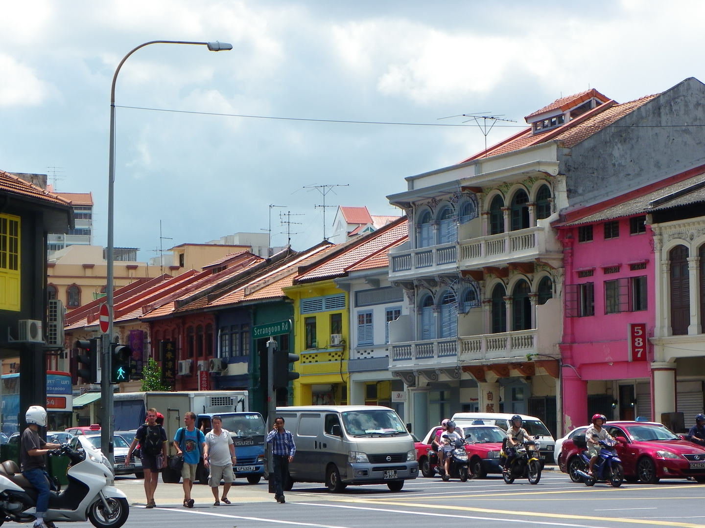
{"label": "cloudy pale blue sky above the rooftops", "polygon": [[271,245],[286,245],[290,211],[301,250],[324,237],[322,196],[305,187],[347,186],[326,206],[398,215],[386,196],[405,177],[484,148],[458,115],[515,121],[494,144],[561,96],[621,103],[705,81],[704,18],[699,1],[0,0],[0,169],[92,192],[104,246],[121,58],[152,40],[229,42],[153,44],[121,68],[115,246],[157,256],[160,220],[165,248],[265,232],[276,205]]}

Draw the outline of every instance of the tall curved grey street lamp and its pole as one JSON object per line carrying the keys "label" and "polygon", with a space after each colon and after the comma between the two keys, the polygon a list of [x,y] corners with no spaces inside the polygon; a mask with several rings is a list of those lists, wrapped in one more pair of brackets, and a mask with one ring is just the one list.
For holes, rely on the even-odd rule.
{"label": "tall curved grey street lamp and its pole", "polygon": [[120,61],[113,75],[113,84],[110,89],[110,153],[108,166],[108,247],[106,251],[107,269],[107,285],[106,285],[106,303],[108,305],[108,332],[102,336],[101,350],[101,367],[102,377],[100,382],[101,388],[101,439],[100,445],[103,453],[113,463],[113,390],[110,386],[110,372],[112,358],[110,355],[110,342],[113,339],[113,289],[114,289],[114,183],[115,183],[115,83],[118,80],[118,73],[125,61],[130,55],[135,53],[140,48],[149,46],[149,44],[195,44],[197,46],[207,46],[209,51],[228,51],[233,49],[232,44],[227,42],[189,42],[181,40],[152,40],[140,44],[135,49],[130,51]]}

